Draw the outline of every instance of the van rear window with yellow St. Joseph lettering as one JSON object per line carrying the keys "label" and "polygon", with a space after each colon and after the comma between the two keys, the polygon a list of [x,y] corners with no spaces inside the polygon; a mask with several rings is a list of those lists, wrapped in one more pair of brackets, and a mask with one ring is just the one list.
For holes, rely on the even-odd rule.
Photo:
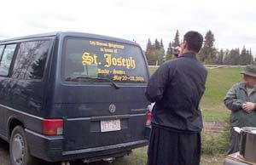
{"label": "van rear window with yellow St. Joseph lettering", "polygon": [[135,45],[78,37],[67,37],[64,45],[64,80],[102,77],[120,83],[148,82],[142,50]]}

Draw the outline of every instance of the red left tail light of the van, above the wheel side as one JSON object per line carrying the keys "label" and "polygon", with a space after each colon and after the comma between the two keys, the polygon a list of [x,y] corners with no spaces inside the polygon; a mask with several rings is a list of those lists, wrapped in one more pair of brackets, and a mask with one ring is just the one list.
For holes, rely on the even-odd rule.
{"label": "red left tail light of the van, above the wheel side", "polygon": [[63,134],[63,120],[62,119],[44,119],[43,134],[45,135]]}

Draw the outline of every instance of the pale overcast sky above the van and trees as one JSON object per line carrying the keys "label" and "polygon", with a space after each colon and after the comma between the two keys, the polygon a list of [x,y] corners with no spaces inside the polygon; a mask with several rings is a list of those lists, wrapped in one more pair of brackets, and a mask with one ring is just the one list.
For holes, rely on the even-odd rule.
{"label": "pale overcast sky above the van and trees", "polygon": [[163,39],[178,30],[211,30],[215,47],[252,48],[256,54],[255,0],[42,0],[2,1],[0,39],[51,31],[81,31],[135,40]]}

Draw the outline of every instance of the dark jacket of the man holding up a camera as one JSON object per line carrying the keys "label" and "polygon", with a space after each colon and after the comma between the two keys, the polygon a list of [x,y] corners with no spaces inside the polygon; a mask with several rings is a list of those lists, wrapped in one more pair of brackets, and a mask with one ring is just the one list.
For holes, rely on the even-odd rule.
{"label": "dark jacket of the man holding up a camera", "polygon": [[150,77],[146,91],[148,100],[155,102],[153,124],[174,131],[200,132],[199,103],[206,79],[207,69],[192,53],[161,65]]}

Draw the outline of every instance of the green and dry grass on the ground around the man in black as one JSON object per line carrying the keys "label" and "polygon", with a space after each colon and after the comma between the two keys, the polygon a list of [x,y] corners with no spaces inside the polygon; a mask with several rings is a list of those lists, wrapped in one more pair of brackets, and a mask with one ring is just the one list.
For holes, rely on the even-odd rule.
{"label": "green and dry grass on the ground around the man in black", "polygon": [[[157,68],[149,68],[151,74]],[[204,122],[224,122],[222,133],[205,132],[202,135],[201,165],[223,164],[225,152],[229,143],[229,117],[230,111],[223,104],[227,91],[241,81],[242,68],[208,69],[206,91],[201,99],[201,109]],[[113,165],[145,165],[147,162],[147,149],[143,147],[134,150],[130,156],[119,158]]]}

